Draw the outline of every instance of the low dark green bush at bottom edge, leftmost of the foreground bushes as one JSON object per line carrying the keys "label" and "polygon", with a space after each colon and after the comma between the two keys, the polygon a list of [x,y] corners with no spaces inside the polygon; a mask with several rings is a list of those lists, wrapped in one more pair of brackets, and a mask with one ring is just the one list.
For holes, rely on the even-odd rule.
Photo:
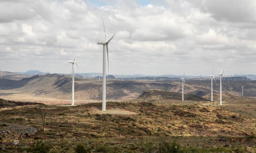
{"label": "low dark green bush at bottom edge, leftmost of the foreground bushes", "polygon": [[27,148],[28,153],[48,153],[52,146],[50,144],[45,144],[42,141],[36,142],[34,146]]}

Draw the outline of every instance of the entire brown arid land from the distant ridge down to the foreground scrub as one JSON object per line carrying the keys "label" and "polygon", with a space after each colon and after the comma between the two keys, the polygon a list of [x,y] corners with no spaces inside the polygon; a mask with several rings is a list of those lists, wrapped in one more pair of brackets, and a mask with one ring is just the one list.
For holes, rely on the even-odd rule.
{"label": "entire brown arid land from the distant ridge down to the foreground scrub", "polygon": [[[254,93],[240,96],[241,82],[224,82],[219,105],[217,85],[214,102],[209,100],[209,80],[187,81],[184,101],[181,81],[107,80],[107,98],[113,99],[107,99],[107,111],[101,111],[97,101],[99,80],[75,80],[73,107],[71,79],[64,75],[0,82],[0,98],[5,99],[0,100],[3,152],[73,153],[78,148],[97,153],[165,153],[171,148],[184,153],[256,152],[256,98]],[[254,81],[244,84],[248,86],[244,95],[254,92]],[[33,103],[14,106],[8,100]],[[15,131],[7,123],[37,132]]]}

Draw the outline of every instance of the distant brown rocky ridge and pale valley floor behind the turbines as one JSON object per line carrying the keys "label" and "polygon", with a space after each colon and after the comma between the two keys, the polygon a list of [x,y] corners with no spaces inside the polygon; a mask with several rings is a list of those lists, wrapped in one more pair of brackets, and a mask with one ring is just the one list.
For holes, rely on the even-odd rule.
{"label": "distant brown rocky ridge and pale valley floor behind the turbines", "polygon": [[[241,84],[244,86],[244,96],[256,97],[256,81],[231,81],[223,80],[222,93],[235,96],[241,95]],[[75,99],[98,100],[102,96],[102,80],[75,78]],[[72,80],[67,75],[47,74],[35,75],[20,80],[0,78],[0,90],[8,93],[47,96],[49,98],[70,99]],[[182,82],[179,81],[139,81],[139,80],[113,80],[107,79],[107,99],[125,100],[139,97],[147,89],[159,89],[182,93]],[[211,92],[210,80],[187,80],[184,86],[186,100],[197,99],[189,95],[206,96]],[[219,82],[213,85],[215,93],[219,93]],[[1,92],[0,92],[1,96]],[[217,97],[217,96],[216,96]],[[173,95],[174,99],[181,99]],[[206,96],[210,100],[209,96]]]}

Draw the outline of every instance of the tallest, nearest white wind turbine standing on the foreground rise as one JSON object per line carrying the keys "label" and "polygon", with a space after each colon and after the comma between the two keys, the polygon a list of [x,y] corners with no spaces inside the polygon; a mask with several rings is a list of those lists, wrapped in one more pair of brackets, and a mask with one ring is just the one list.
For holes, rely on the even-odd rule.
{"label": "tallest, nearest white wind turbine standing on the foreground rise", "polygon": [[[102,19],[102,22],[103,22],[103,19]],[[98,41],[98,45],[103,45],[102,110],[106,110],[106,47],[114,36],[107,41],[104,22],[103,22],[103,26],[104,26],[104,31],[105,31],[105,41]],[[107,47],[107,63],[109,64],[109,61],[108,61],[108,47]]]}

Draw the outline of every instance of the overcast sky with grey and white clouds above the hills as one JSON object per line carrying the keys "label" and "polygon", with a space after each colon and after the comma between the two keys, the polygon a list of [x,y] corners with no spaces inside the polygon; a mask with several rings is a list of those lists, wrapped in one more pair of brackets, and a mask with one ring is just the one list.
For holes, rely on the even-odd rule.
{"label": "overcast sky with grey and white clouds above the hills", "polygon": [[0,70],[256,74],[255,0],[0,0]]}

